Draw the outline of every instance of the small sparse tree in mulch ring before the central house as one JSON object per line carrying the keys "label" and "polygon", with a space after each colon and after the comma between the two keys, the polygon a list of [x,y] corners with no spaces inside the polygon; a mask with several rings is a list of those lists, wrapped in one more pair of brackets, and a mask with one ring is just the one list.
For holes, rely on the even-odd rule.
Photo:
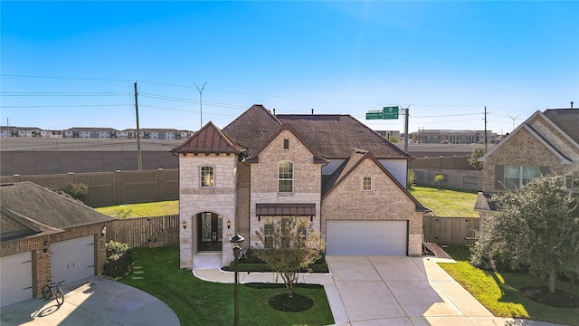
{"label": "small sparse tree in mulch ring before the central house", "polygon": [[256,243],[261,250],[256,250],[255,254],[268,264],[272,271],[281,275],[291,298],[293,285],[298,282],[299,270],[308,268],[309,264],[314,264],[321,258],[326,243],[319,232],[314,232],[311,223],[295,217],[282,217],[274,222],[271,233],[267,235],[263,227],[255,234],[260,238],[261,244],[268,244],[263,247]]}

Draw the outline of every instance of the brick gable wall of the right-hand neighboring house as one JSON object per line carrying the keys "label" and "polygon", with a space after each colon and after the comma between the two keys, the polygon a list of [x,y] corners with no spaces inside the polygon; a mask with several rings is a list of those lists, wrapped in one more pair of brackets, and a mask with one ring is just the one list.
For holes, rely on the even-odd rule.
{"label": "brick gable wall of the right-hand neighboring house", "polygon": [[[539,123],[539,122],[536,122]],[[546,136],[552,136],[553,134]],[[556,139],[549,139],[555,143]],[[499,192],[502,187],[497,187],[496,168],[500,166],[534,166],[548,168],[549,174],[567,174],[571,171],[579,171],[579,165],[563,165],[561,158],[542,144],[535,136],[531,135],[527,129],[519,129],[517,133],[499,145],[498,149],[487,158],[482,171],[482,191]],[[565,146],[563,147],[565,148]],[[572,154],[572,153],[569,153]],[[576,156],[576,155],[575,155]],[[502,182],[502,180],[499,180]]]}

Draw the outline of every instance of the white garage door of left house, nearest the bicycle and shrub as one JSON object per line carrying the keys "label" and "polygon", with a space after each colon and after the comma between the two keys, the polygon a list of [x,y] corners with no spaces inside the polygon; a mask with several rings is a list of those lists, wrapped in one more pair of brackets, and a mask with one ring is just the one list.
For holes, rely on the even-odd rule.
{"label": "white garage door of left house, nearest the bicycle and shrub", "polygon": [[52,281],[71,283],[94,275],[94,235],[51,245]]}

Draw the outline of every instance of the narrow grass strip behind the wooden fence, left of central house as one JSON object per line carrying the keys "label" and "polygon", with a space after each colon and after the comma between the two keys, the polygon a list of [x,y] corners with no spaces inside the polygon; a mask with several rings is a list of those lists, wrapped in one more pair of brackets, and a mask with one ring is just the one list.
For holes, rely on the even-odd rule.
{"label": "narrow grass strip behind the wooden fence, left of central house", "polygon": [[179,214],[179,201],[169,200],[154,203],[125,204],[95,208],[108,216],[119,216],[119,213],[129,212],[128,217],[168,216]]}

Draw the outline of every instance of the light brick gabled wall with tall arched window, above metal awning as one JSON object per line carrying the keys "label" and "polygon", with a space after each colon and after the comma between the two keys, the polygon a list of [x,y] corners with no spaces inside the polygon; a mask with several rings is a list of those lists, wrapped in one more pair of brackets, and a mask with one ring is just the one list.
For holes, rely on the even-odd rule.
{"label": "light brick gabled wall with tall arched window, above metal awning", "polygon": [[[283,139],[289,139],[289,149],[283,149]],[[278,163],[288,160],[294,164],[293,193],[278,193]],[[289,130],[280,135],[261,151],[259,163],[251,167],[250,237],[249,244],[259,243],[255,231],[263,226],[255,215],[256,204],[314,203],[315,230],[320,230],[321,164],[313,163],[312,153]]]}

